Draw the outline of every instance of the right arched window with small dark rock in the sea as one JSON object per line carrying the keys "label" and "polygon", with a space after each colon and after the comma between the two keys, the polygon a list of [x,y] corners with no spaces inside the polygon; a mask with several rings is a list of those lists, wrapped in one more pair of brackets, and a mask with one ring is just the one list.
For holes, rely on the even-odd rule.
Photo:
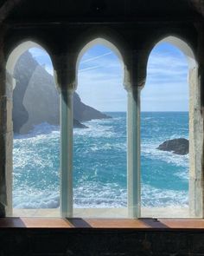
{"label": "right arched window with small dark rock in the sea", "polygon": [[192,50],[173,36],[150,53],[141,95],[143,217],[192,216],[194,84],[188,79],[195,68]]}

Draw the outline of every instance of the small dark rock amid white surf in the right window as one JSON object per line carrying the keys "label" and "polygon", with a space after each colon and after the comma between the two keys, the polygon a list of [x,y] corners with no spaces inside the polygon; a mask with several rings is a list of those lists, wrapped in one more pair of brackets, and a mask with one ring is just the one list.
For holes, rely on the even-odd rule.
{"label": "small dark rock amid white surf in the right window", "polygon": [[163,150],[163,151],[172,151],[174,154],[188,154],[189,141],[184,138],[164,141],[156,149]]}

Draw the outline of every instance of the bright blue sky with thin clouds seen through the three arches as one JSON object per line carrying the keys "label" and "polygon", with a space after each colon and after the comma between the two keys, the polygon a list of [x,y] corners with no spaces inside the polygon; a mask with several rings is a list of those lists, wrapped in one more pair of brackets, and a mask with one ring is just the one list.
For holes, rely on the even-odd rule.
{"label": "bright blue sky with thin clouds seen through the three arches", "polygon": [[[53,75],[46,51],[29,51]],[[123,63],[111,49],[97,44],[81,57],[77,93],[82,102],[100,111],[126,111]],[[188,63],[182,51],[172,44],[160,43],[150,53],[141,110],[188,111]]]}

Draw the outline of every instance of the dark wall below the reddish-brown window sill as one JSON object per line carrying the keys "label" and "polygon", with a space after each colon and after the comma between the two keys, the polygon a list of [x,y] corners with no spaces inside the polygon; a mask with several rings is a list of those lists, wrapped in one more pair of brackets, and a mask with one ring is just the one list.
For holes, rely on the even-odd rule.
{"label": "dark wall below the reddish-brown window sill", "polygon": [[0,230],[6,256],[203,256],[203,230],[7,228]]}

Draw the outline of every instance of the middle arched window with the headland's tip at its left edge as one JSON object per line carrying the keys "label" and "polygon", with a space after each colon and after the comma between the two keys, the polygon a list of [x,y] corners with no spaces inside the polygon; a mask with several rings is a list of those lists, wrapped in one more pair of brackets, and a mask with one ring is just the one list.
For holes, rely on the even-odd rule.
{"label": "middle arched window with the headland's tip at its left edge", "polygon": [[73,95],[73,215],[126,217],[127,97],[122,57],[111,43],[96,39],[81,50],[78,63]]}

